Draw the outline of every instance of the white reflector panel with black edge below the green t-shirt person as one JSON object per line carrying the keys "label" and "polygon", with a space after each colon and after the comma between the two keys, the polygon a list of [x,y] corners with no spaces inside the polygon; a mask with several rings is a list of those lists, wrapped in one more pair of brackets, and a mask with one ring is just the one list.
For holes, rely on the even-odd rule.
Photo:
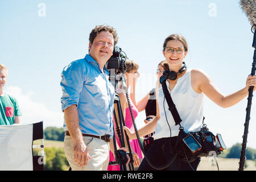
{"label": "white reflector panel with black edge below the green t-shirt person", "polygon": [[33,124],[0,126],[0,170],[32,171]]}

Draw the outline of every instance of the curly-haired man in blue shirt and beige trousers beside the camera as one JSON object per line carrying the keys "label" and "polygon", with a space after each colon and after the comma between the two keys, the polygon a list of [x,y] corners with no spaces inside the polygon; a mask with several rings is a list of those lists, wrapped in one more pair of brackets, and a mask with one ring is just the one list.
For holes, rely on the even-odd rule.
{"label": "curly-haired man in blue shirt and beige trousers beside the camera", "polygon": [[64,151],[72,170],[108,168],[115,90],[105,64],[117,41],[113,27],[96,26],[90,32],[89,54],[61,73]]}

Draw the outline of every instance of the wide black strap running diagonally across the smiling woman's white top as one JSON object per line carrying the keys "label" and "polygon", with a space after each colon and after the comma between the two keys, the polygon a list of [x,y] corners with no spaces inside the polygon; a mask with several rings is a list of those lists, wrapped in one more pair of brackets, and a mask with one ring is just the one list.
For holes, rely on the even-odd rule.
{"label": "wide black strap running diagonally across the smiling woman's white top", "polygon": [[169,106],[169,110],[172,113],[172,117],[174,117],[174,121],[175,121],[175,125],[180,125],[180,122],[182,121],[180,119],[180,115],[177,112],[176,106],[174,104],[174,101],[172,101],[172,97],[170,92],[167,89],[167,85],[166,85],[166,78],[164,78],[163,76],[160,77],[160,83],[162,84],[162,88],[163,88],[163,93],[164,93],[164,97],[166,97],[166,101],[167,104]]}

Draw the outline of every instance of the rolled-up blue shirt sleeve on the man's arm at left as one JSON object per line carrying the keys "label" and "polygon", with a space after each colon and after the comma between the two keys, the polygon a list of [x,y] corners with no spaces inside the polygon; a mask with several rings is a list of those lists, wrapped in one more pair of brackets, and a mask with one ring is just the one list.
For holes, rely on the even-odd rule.
{"label": "rolled-up blue shirt sleeve on the man's arm at left", "polygon": [[60,86],[63,93],[60,99],[62,111],[73,104],[78,105],[84,86],[84,69],[79,61],[73,61],[63,69]]}

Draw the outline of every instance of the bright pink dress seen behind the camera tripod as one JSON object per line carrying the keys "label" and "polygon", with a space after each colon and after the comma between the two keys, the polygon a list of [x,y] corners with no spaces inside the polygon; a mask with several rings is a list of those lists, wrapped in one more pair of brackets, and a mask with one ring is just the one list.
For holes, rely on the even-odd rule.
{"label": "bright pink dress seen behind the camera tripod", "polygon": [[[131,102],[131,110],[133,111],[133,116],[135,119],[138,115],[138,109],[133,105],[133,102]],[[130,113],[129,107],[126,108],[125,112],[126,112],[125,125],[126,125],[126,127],[129,127],[129,129],[131,131],[134,131],[133,120],[131,119],[131,113]],[[115,136],[117,136],[117,135],[115,135]],[[115,137],[115,138],[117,140],[118,145],[120,146],[119,138],[117,138],[117,137]],[[131,146],[132,150],[138,154],[140,159],[142,159],[141,147],[139,147],[138,140],[133,139],[133,140],[129,140],[129,141],[130,141],[130,146]],[[109,152],[109,162],[110,161],[115,161],[114,155],[112,154],[111,151]],[[119,164],[108,166],[108,171],[120,171]]]}

